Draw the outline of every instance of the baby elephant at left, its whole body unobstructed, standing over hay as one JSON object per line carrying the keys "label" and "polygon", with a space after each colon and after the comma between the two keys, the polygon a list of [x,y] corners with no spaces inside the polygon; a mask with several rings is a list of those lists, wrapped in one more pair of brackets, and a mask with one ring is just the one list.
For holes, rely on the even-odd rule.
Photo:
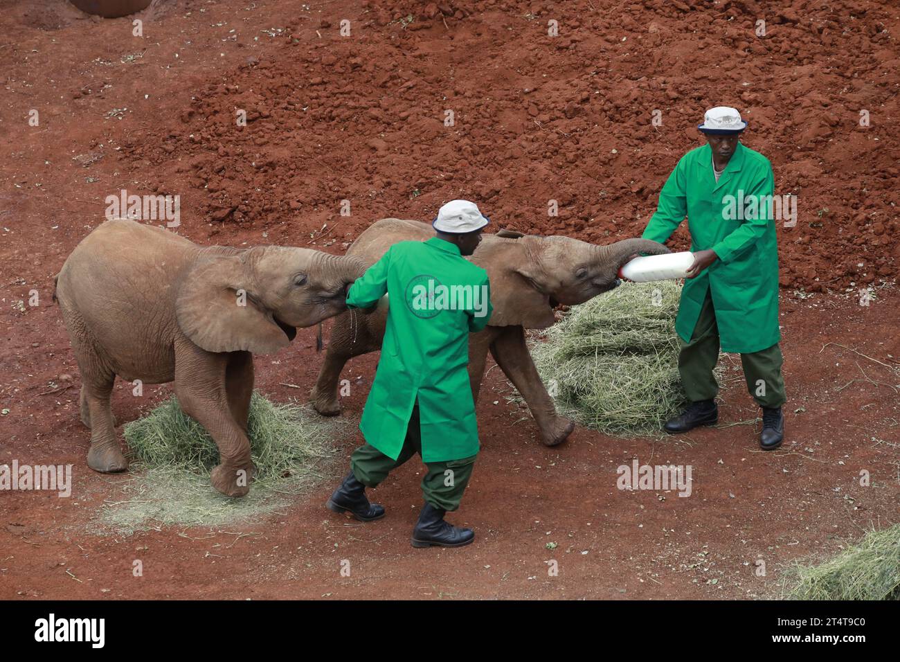
{"label": "baby elephant at left, its whole body unobstructed, standing over hay", "polygon": [[112,427],[115,376],[174,380],[184,413],[219,447],[212,485],[247,494],[253,354],[286,347],[296,327],[346,310],[346,286],[365,267],[317,250],[202,247],[139,222],[104,222],[72,251],[53,295],[81,372],[88,466],[128,468]]}

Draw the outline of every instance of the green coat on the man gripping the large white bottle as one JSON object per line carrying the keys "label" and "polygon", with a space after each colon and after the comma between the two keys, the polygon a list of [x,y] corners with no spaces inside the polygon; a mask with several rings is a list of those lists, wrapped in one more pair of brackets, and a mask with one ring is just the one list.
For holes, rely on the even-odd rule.
{"label": "green coat on the man gripping the large white bottle", "polygon": [[[779,254],[769,202],[775,187],[772,166],[739,142],[716,182],[712,159],[708,144],[681,158],[662,186],[643,236],[665,242],[687,214],[691,251],[713,249],[719,258],[685,281],[675,331],[690,340],[708,288],[722,350],[749,354],[780,338]],[[757,203],[739,213],[742,199]]]}

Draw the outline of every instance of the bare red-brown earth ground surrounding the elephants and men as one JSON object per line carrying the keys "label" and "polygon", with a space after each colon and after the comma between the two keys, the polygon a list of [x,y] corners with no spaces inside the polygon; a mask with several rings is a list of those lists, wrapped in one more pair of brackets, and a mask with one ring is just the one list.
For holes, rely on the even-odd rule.
{"label": "bare red-brown earth ground surrounding the elephants and men", "polygon": [[[0,598],[777,596],[792,560],[897,521],[900,380],[886,366],[900,356],[900,23],[887,3],[488,1],[445,14],[412,2],[177,0],[141,14],[143,38],[128,19],[63,2],[9,5],[0,464],[71,463],[75,486],[70,499],[0,491]],[[178,231],[202,243],[343,252],[374,219],[427,220],[451,197],[477,200],[498,227],[605,242],[640,233],[664,178],[699,144],[691,127],[719,103],[742,108],[747,144],[772,160],[778,192],[798,196],[797,227],[779,229],[784,449],[761,453],[751,424],[660,440],[578,429],[546,449],[495,368],[478,407],[482,455],[453,516],[476,530],[469,548],[410,548],[415,462],[374,491],[389,515],[365,526],[323,508],[328,482],[283,516],[227,531],[87,532],[128,476],[85,466],[77,370],[50,293],[106,195],[181,195]],[[237,108],[252,118],[243,130]],[[650,123],[657,108],[662,127]],[[560,215],[548,219],[551,198]],[[338,215],[343,199],[350,217]],[[869,306],[860,286],[874,288]],[[345,416],[358,418],[375,360],[347,367]],[[257,384],[276,401],[302,397],[318,367],[314,331],[301,331],[257,358]],[[740,372],[729,376],[724,426],[757,413]],[[145,393],[117,385],[119,422],[170,389]],[[616,468],[632,458],[691,465],[693,494],[617,490]]]}

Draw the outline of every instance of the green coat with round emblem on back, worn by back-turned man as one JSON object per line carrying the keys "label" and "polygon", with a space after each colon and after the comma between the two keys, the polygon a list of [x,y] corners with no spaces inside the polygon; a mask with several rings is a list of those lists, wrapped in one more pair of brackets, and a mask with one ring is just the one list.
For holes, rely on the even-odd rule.
{"label": "green coat with round emblem on back, worn by back-turned man", "polygon": [[[462,295],[446,296],[440,286],[465,287],[456,290]],[[396,459],[418,398],[423,461],[476,455],[469,333],[491,318],[487,272],[449,241],[401,241],[350,287],[347,307],[368,308],[385,293],[382,356],[359,422],[365,440]]]}

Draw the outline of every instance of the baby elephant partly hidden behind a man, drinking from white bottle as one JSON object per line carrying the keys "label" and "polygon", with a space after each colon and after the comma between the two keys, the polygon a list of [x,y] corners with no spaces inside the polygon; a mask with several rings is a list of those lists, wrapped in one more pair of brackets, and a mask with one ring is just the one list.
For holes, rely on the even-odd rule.
{"label": "baby elephant partly hidden behind a man, drinking from white bottle", "polygon": [[[359,236],[347,255],[374,264],[397,241],[428,240],[430,225],[418,221],[383,219]],[[545,329],[554,323],[557,304],[583,304],[618,285],[618,269],[637,253],[670,252],[662,244],[642,239],[596,246],[569,237],[522,236],[501,231],[483,235],[472,258],[491,279],[494,311],[488,327],[469,336],[469,378],[475,400],[482,385],[487,353],[525,398],[540,430],[541,440],[554,446],[565,440],[574,423],[558,416],[554,402],[537,374],[528,351],[525,330]],[[352,357],[381,349],[387,303],[383,299],[369,315],[341,313],[311,401],[319,413],[340,413],[338,379]]]}

